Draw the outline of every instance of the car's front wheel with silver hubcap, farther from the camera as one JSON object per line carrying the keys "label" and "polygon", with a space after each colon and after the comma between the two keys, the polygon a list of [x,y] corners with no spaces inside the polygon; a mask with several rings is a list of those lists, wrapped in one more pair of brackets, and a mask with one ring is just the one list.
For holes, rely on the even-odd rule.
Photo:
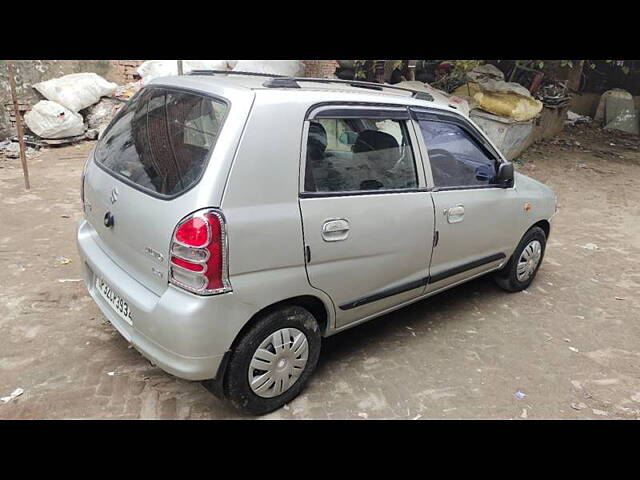
{"label": "car's front wheel with silver hubcap, farther from the camera", "polygon": [[527,288],[538,273],[547,236],[540,227],[533,227],[524,234],[509,262],[494,275],[494,280],[509,292]]}

